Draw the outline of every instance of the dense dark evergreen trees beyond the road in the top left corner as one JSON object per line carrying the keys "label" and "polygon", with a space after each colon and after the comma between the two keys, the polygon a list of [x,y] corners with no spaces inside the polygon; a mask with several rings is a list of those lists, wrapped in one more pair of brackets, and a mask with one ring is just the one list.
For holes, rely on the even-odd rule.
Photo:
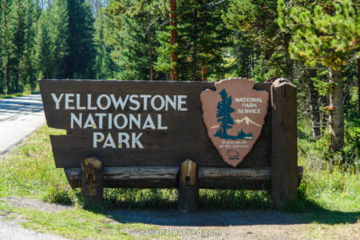
{"label": "dense dark evergreen trees beyond the road in the top left corner", "polygon": [[33,90],[39,78],[94,77],[94,15],[85,0],[0,5],[2,93]]}

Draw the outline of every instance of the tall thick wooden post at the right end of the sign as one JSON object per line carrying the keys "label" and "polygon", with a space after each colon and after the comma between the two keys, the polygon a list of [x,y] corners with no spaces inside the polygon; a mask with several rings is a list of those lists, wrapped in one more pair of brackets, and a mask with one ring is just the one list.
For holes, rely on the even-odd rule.
{"label": "tall thick wooden post at the right end of the sign", "polygon": [[297,195],[297,107],[296,87],[284,78],[271,86],[272,148],[271,188],[275,208]]}

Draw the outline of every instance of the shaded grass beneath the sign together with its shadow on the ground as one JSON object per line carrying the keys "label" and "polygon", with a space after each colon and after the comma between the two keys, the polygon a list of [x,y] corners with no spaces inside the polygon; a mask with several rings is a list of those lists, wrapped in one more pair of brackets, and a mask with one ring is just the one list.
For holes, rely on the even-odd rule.
{"label": "shaded grass beneath the sign together with its shadow on the ground", "polygon": [[[85,206],[79,190],[76,200]],[[319,223],[327,225],[355,224],[359,212],[323,209],[299,191],[285,210],[275,210],[268,191],[201,190],[200,211],[185,213],[177,210],[176,189],[105,189],[103,206],[84,208],[101,213],[120,223],[141,223],[158,226],[225,227],[249,225],[296,225]],[[55,200],[69,203],[64,196]]]}

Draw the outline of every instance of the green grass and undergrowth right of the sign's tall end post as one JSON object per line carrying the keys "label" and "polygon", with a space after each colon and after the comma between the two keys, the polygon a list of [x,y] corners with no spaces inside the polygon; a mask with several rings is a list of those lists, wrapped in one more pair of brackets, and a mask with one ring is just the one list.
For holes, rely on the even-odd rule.
{"label": "green grass and undergrowth right of the sign's tall end post", "polygon": [[[353,153],[348,159],[351,153],[329,153],[329,136],[311,138],[311,123],[307,120],[301,120],[298,128],[299,164],[304,168],[304,175],[298,199],[289,202],[287,209],[302,213],[302,222],[310,224],[307,233],[310,238],[358,239],[359,156]],[[347,132],[356,131],[352,127],[347,129]],[[351,147],[350,140],[346,140],[347,147],[360,147]]]}

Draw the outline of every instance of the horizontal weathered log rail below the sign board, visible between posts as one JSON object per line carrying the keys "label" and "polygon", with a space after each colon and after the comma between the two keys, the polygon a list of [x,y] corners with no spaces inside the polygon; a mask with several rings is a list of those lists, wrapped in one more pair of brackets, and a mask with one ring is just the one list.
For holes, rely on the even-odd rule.
{"label": "horizontal weathered log rail below the sign board, visible between posts", "polygon": [[[104,167],[106,188],[177,188],[179,166]],[[297,169],[297,186],[302,181],[302,167]],[[72,188],[81,186],[81,168],[65,168]],[[229,168],[199,167],[199,188],[263,189],[271,185],[271,167]]]}

